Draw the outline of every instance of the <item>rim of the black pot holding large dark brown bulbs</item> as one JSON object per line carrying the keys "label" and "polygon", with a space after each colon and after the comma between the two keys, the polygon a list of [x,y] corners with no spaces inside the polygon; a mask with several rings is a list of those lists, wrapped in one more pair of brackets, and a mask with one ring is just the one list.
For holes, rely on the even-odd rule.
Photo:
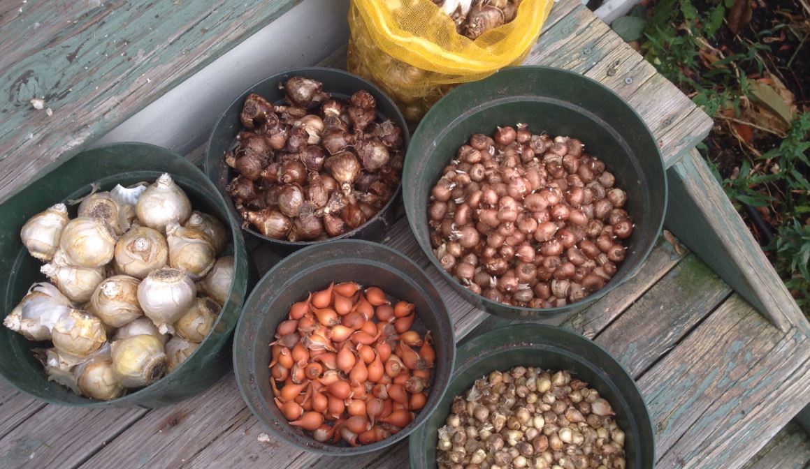
{"label": "rim of the black pot holding large dark brown bulbs", "polygon": [[[377,85],[373,84],[372,82],[369,82],[365,78],[362,78],[362,77],[360,77],[360,76],[358,76],[356,74],[351,74],[351,73],[347,72],[346,70],[333,69],[333,68],[330,68],[330,67],[300,67],[300,68],[297,68],[297,69],[285,70],[283,72],[279,72],[278,74],[272,74],[271,76],[269,76],[267,78],[263,78],[263,79],[259,80],[258,82],[255,82],[253,85],[248,87],[245,91],[242,91],[241,95],[239,95],[237,97],[237,99],[233,99],[231,101],[231,104],[228,104],[228,107],[225,108],[225,111],[222,112],[222,114],[220,114],[220,118],[217,119],[215,124],[214,124],[214,129],[218,128],[220,126],[220,123],[223,122],[223,120],[225,119],[225,113],[228,112],[228,109],[232,108],[232,106],[236,105],[237,103],[240,103],[240,102],[244,101],[245,100],[245,95],[247,95],[248,92],[253,90],[255,87],[258,87],[262,83],[264,83],[264,82],[266,82],[268,80],[271,80],[271,79],[273,79],[275,77],[279,77],[280,75],[291,75],[291,76],[301,75],[301,76],[306,76],[306,73],[311,72],[311,71],[322,71],[322,72],[329,72],[329,73],[335,73],[335,74],[342,74],[344,77],[356,79],[357,81],[362,82],[365,87],[368,87],[367,90],[375,91],[379,95],[385,96],[386,100],[391,105],[391,108],[394,109],[394,116],[386,116],[386,118],[388,118],[389,120],[394,120],[394,121],[398,120],[400,123],[406,122],[405,117],[403,116],[403,113],[399,110],[399,107],[396,104],[394,104],[394,101],[392,99],[390,99],[390,96],[387,95],[385,91],[382,91],[379,87],[377,87]],[[326,83],[324,83],[324,86],[326,86]],[[326,91],[326,92],[329,92],[329,91]],[[411,133],[408,131],[407,125],[402,129],[402,131],[403,131],[403,147],[399,151],[403,153],[403,165],[404,165],[404,155],[407,154],[407,146],[408,146],[408,143],[411,140]],[[208,137],[207,149],[211,148],[211,143],[213,141],[214,141],[214,132],[212,131],[211,136]],[[208,150],[206,150],[206,153],[207,152],[208,152]],[[210,160],[210,158],[207,157],[207,158],[205,158],[205,162],[204,162],[206,175],[208,174],[209,160]],[[373,222],[377,222],[377,221],[385,222],[384,214],[387,213],[388,210],[391,209],[391,205],[394,204],[394,201],[397,201],[399,199],[399,196],[402,195],[402,192],[403,192],[402,189],[403,189],[403,181],[400,180],[399,185],[397,185],[396,190],[394,190],[394,194],[386,202],[386,205],[383,205],[382,209],[380,209],[377,213],[375,213],[372,218],[369,218],[369,220],[366,220],[365,223],[363,223],[360,226],[357,226],[355,229],[347,231],[346,233],[343,233],[343,235],[333,236],[333,237],[331,237],[329,239],[324,239],[322,241],[289,241],[288,239],[270,238],[269,236],[262,235],[261,233],[254,230],[250,226],[245,226],[245,227],[242,228],[242,230],[247,231],[250,235],[253,235],[258,239],[262,239],[263,241],[267,241],[269,243],[279,244],[282,247],[288,247],[288,248],[309,247],[309,246],[315,246],[315,245],[318,245],[318,244],[321,244],[321,243],[328,243],[330,241],[338,241],[340,239],[352,239],[352,236],[357,235],[357,233],[359,233],[366,226],[369,226]],[[225,203],[228,204],[228,213],[232,216],[233,213],[232,213],[231,209],[232,209],[233,201],[232,201],[231,197],[230,196],[224,196],[221,192],[220,192],[220,196],[223,196]]]}

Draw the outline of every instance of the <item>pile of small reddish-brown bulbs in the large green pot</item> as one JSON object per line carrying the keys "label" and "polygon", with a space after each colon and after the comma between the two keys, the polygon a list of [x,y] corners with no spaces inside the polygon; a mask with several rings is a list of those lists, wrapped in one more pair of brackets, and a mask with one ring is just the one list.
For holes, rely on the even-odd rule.
{"label": "pile of small reddish-brown bulbs in the large green pot", "polygon": [[625,260],[627,193],[582,142],[527,125],[476,133],[433,186],[441,267],[493,302],[550,308],[601,289]]}

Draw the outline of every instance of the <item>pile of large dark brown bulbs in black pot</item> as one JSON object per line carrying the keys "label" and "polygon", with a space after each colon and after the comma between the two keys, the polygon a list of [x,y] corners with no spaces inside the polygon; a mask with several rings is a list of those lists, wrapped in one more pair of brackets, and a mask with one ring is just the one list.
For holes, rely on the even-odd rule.
{"label": "pile of large dark brown bulbs in black pot", "polygon": [[245,127],[225,163],[237,211],[273,239],[313,241],[343,235],[373,218],[394,196],[402,175],[403,131],[377,122],[377,102],[360,90],[335,99],[322,83],[292,77],[279,85],[289,105],[254,93]]}

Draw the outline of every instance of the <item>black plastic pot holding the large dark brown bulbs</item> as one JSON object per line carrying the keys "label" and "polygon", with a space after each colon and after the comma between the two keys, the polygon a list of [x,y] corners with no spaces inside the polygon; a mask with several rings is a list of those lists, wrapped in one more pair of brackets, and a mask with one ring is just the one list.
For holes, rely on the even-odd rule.
{"label": "black plastic pot holding the large dark brown bulbs", "polygon": [[[335,98],[347,99],[356,91],[369,91],[369,93],[374,96],[374,99],[377,99],[377,111],[380,119],[388,118],[393,120],[394,123],[399,125],[400,129],[403,129],[402,150],[403,152],[407,150],[410,134],[408,133],[405,118],[402,113],[399,112],[399,108],[396,107],[394,102],[371,82],[343,70],[322,67],[288,70],[280,74],[272,75],[256,83],[237,99],[233,100],[232,104],[228,106],[228,109],[226,109],[222,116],[220,116],[220,119],[217,120],[214,131],[211,133],[211,138],[208,141],[208,150],[205,157],[205,172],[208,175],[208,179],[213,181],[216,187],[220,189],[220,193],[224,196],[225,200],[228,201],[228,209],[237,220],[240,219],[239,214],[234,207],[231,196],[228,194],[228,191],[225,190],[225,186],[227,186],[228,182],[236,175],[236,172],[225,164],[224,154],[228,150],[232,150],[237,144],[237,134],[242,129],[239,120],[242,105],[245,104],[245,98],[250,93],[262,95],[272,103],[286,103],[283,91],[279,90],[279,82],[285,82],[288,78],[295,76],[304,76],[322,82],[323,90],[335,96]],[[330,238],[330,240],[367,239],[369,241],[381,241],[386,227],[394,222],[394,208],[399,203],[399,197],[401,195],[401,188],[398,187],[394,192],[394,196],[382,207],[377,215],[355,230],[347,231],[343,235]],[[292,242],[286,239],[272,239],[262,235],[251,226],[245,226],[244,230],[259,239],[264,239],[266,242],[271,243],[275,250],[280,253],[289,253],[301,249],[302,247],[322,243],[321,241]]]}

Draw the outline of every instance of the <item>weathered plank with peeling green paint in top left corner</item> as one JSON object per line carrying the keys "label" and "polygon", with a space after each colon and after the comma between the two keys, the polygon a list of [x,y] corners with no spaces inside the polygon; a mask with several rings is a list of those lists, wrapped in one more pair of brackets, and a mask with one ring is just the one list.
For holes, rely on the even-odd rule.
{"label": "weathered plank with peeling green paint in top left corner", "polygon": [[[0,40],[0,94],[9,98],[0,104],[0,201],[294,3],[15,4],[3,15]],[[53,116],[33,109],[34,97]]]}

